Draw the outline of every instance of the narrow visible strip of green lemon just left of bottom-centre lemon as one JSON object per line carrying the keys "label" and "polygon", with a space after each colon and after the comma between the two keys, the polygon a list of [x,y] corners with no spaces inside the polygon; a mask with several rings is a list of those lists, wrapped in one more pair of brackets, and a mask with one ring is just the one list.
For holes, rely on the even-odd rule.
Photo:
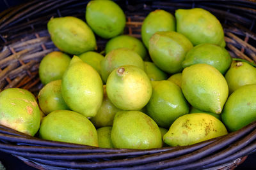
{"label": "narrow visible strip of green lemon just left of bottom-centre lemon", "polygon": [[97,129],[100,148],[114,148],[111,140],[111,131],[111,126],[100,127],[99,129]]}

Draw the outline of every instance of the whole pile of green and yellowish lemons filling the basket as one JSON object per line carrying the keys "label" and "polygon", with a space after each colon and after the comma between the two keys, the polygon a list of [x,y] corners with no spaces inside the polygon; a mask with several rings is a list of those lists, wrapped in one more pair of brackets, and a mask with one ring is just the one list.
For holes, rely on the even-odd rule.
{"label": "whole pile of green and yellowish lemons filling the basket", "polygon": [[[122,34],[125,13],[113,1],[90,1],[85,19],[51,18],[61,52],[40,63],[38,103],[28,90],[3,90],[0,124],[52,141],[148,149],[192,145],[256,120],[256,69],[232,62],[209,11],[152,11],[142,41]],[[95,34],[108,39],[105,56]]]}

